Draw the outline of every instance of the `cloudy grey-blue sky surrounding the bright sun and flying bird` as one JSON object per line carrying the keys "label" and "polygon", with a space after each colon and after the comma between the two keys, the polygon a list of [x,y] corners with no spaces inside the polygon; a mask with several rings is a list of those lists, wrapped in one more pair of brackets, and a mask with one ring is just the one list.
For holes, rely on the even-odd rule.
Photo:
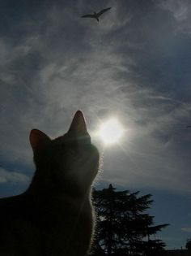
{"label": "cloudy grey-blue sky surrounding the bright sun and flying bird", "polygon": [[[81,15],[112,7],[100,17]],[[0,197],[28,188],[32,128],[57,137],[83,111],[102,158],[96,187],[151,193],[157,237],[191,237],[191,2],[0,2]],[[125,135],[103,147],[100,123]]]}

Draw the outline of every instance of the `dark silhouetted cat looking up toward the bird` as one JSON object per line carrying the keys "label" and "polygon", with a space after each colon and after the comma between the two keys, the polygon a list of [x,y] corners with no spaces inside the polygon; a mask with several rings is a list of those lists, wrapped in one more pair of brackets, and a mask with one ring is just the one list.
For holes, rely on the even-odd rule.
{"label": "dark silhouetted cat looking up toward the bird", "polygon": [[33,129],[36,172],[28,189],[0,199],[1,256],[85,256],[94,229],[91,184],[99,153],[77,111],[65,135]]}

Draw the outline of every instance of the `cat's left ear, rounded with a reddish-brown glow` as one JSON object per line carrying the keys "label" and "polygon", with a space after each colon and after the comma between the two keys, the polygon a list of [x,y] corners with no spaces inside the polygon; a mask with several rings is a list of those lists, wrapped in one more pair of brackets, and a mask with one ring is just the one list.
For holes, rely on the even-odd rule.
{"label": "cat's left ear, rounded with a reddish-brown glow", "polygon": [[32,150],[36,150],[38,145],[51,141],[50,138],[44,132],[41,132],[40,130],[37,129],[32,129],[29,139],[32,146]]}

